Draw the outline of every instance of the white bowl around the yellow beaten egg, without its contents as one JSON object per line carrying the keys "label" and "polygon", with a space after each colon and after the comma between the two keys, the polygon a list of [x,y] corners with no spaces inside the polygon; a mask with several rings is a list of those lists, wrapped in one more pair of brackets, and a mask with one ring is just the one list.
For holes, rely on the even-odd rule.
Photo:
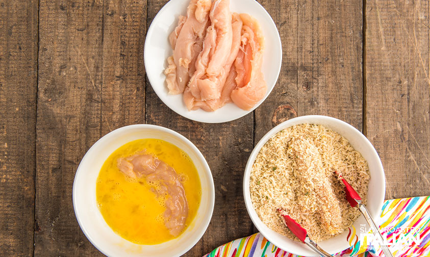
{"label": "white bowl around the yellow beaten egg, without its contents", "polygon": [[[193,161],[201,183],[201,200],[194,220],[178,238],[158,245],[139,245],[113,232],[97,208],[96,179],[103,163],[118,147],[136,139],[155,138],[170,142],[184,150]],[[184,136],[156,125],[130,125],[112,131],[88,150],[78,167],[73,182],[73,207],[85,236],[104,254],[114,256],[180,256],[205,233],[212,217],[215,190],[212,173],[201,152]]]}

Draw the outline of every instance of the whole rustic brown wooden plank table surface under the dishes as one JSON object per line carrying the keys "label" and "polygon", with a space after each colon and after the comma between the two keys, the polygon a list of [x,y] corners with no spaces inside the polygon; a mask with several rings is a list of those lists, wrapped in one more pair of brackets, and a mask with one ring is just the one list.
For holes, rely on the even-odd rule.
{"label": "whole rustic brown wooden plank table surface under the dishes", "polygon": [[178,131],[212,169],[212,222],[186,256],[254,232],[246,160],[297,115],[361,130],[384,164],[386,198],[430,194],[428,1],[261,0],[281,34],[281,74],[256,111],[223,124],[180,117],[146,80],[145,33],[165,3],[0,0],[0,255],[101,256],[74,216],[74,173],[96,140],[135,123]]}

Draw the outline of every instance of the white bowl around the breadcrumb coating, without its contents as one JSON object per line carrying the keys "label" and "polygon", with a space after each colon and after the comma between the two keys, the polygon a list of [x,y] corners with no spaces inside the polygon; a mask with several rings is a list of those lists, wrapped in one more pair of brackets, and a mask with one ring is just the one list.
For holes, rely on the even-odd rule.
{"label": "white bowl around the breadcrumb coating, without its contents", "polygon": [[[336,131],[344,138],[346,138],[351,144],[351,146],[357,151],[359,151],[364,157],[364,159],[366,159],[370,171],[370,181],[368,187],[366,208],[367,210],[369,210],[376,223],[379,220],[380,212],[382,210],[382,205],[384,203],[385,198],[385,175],[381,160],[370,141],[355,127],[336,118],[320,115],[309,115],[293,118],[275,126],[260,140],[260,142],[258,142],[254,150],[251,152],[251,155],[248,159],[248,163],[245,167],[245,174],[243,177],[243,194],[245,197],[246,209],[249,213],[249,216],[251,217],[252,222],[254,222],[255,226],[261,232],[261,234],[263,234],[263,236],[267,238],[267,240],[272,242],[277,247],[280,247],[285,251],[297,255],[319,256],[316,252],[311,250],[305,244],[293,241],[285,236],[275,233],[273,230],[268,228],[260,220],[254,207],[252,207],[251,196],[249,193],[249,176],[251,173],[252,165],[254,164],[254,161],[263,145],[267,142],[267,140],[270,139],[270,137],[282,131],[286,127],[302,123],[320,124],[327,127],[328,129]],[[367,225],[363,216],[360,216],[353,223],[353,225],[358,230],[361,228],[361,225],[365,225],[367,227],[366,229],[369,229],[369,226]],[[318,243],[318,245],[321,246],[321,248],[325,251],[331,254],[335,254],[350,247],[348,241],[346,240],[347,235],[348,230],[334,238],[321,241]]]}

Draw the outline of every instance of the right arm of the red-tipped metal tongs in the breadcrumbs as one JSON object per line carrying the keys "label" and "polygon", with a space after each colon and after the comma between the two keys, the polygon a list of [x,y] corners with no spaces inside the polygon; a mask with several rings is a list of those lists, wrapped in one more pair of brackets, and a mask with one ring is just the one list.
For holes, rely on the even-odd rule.
{"label": "right arm of the red-tipped metal tongs in the breadcrumbs", "polygon": [[[375,222],[372,219],[372,216],[370,216],[370,213],[367,211],[366,207],[361,201],[360,195],[357,193],[355,189],[349,185],[349,183],[345,180],[345,178],[342,177],[342,174],[339,174],[335,171],[336,174],[342,179],[343,184],[345,185],[345,194],[346,194],[346,200],[351,204],[351,207],[357,207],[360,212],[363,214],[364,218],[366,219],[367,223],[369,224],[370,228],[372,229],[373,235],[379,238],[380,242],[384,242],[384,239],[381,235],[380,230],[376,226]],[[387,257],[393,257],[393,254],[391,253],[390,249],[388,249],[388,246],[381,245],[381,249],[384,252],[385,256]]]}

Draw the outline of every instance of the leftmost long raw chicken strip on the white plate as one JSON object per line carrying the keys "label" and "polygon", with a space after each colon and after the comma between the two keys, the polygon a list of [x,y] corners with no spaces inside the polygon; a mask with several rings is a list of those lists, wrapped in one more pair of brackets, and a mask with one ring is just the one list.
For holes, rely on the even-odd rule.
{"label": "leftmost long raw chicken strip on the white plate", "polygon": [[164,73],[167,75],[167,87],[171,94],[184,92],[185,86],[189,82],[189,67],[192,66],[190,63],[195,60],[195,57],[201,50],[199,44],[203,42],[203,38],[205,37],[210,8],[211,0],[191,0],[187,8],[187,18],[184,24],[182,24],[182,28],[179,28],[181,27],[181,19],[178,27],[176,27],[179,31],[178,38],[176,38],[176,41],[174,40],[174,36],[172,36],[172,39],[169,39],[170,43],[174,44],[174,65],[168,61],[169,66]]}

